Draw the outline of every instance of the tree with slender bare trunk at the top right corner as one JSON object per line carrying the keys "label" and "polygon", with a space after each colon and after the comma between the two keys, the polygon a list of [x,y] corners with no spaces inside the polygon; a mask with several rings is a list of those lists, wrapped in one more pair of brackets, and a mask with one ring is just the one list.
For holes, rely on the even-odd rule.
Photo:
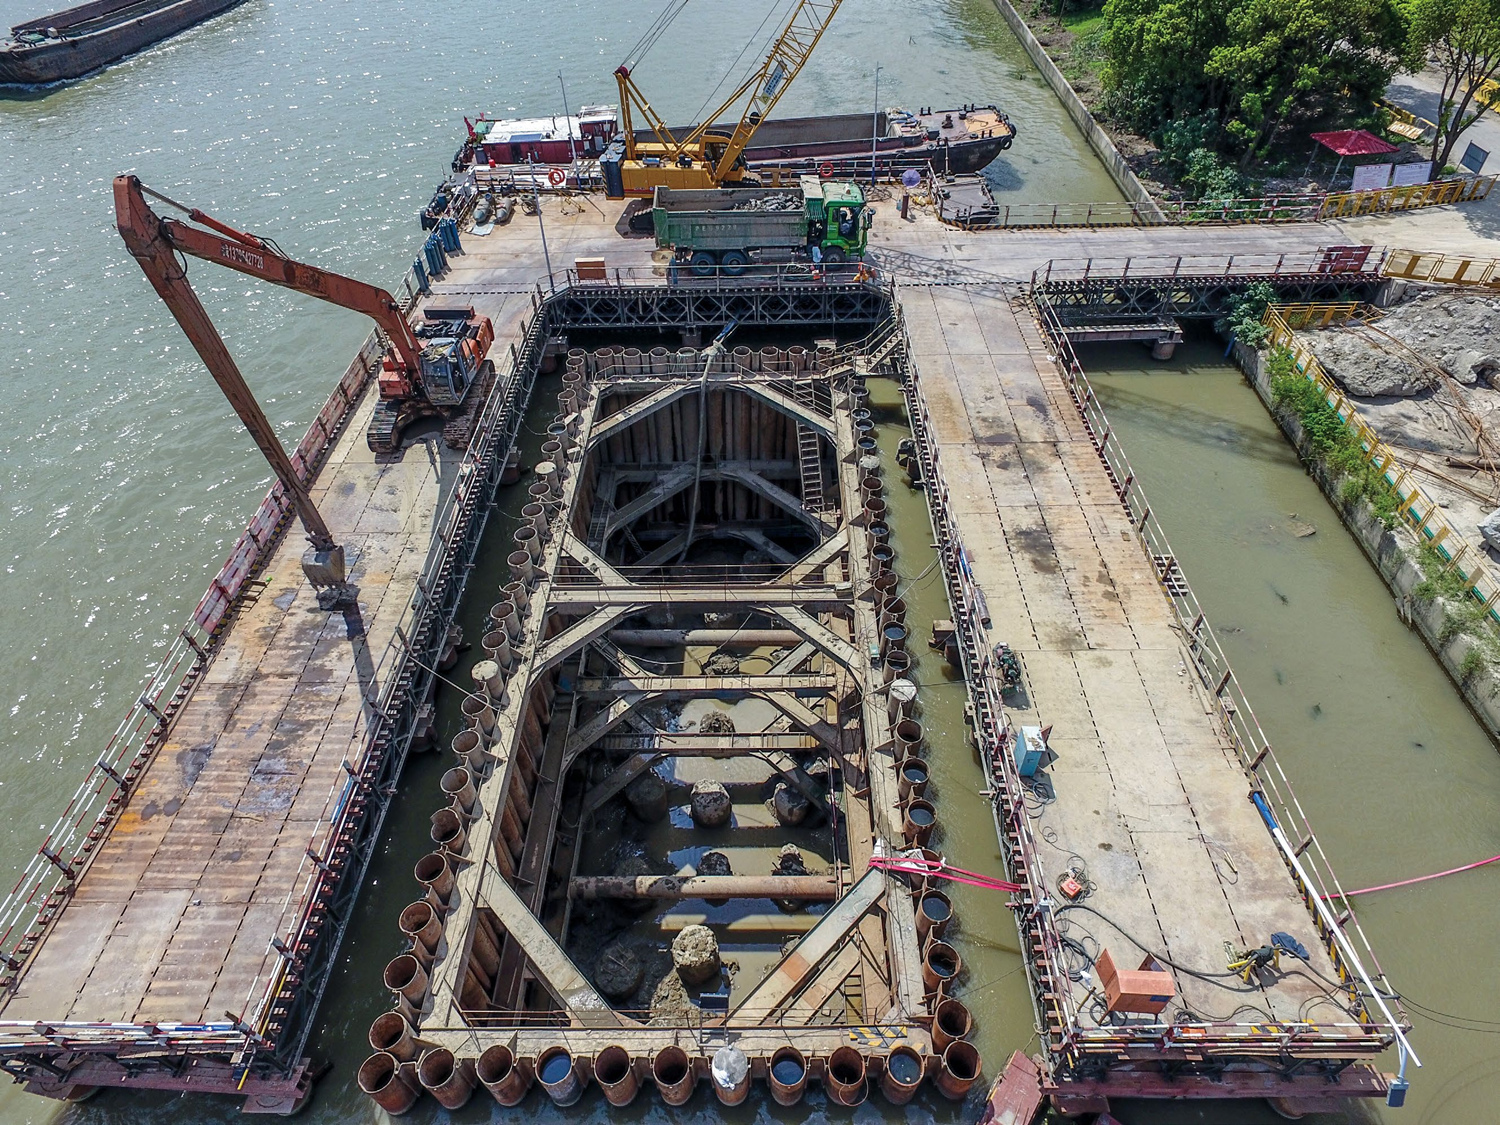
{"label": "tree with slender bare trunk at the top right corner", "polygon": [[1404,15],[1412,68],[1431,58],[1443,72],[1432,138],[1432,165],[1442,170],[1488,108],[1479,88],[1500,75],[1500,0],[1404,0]]}

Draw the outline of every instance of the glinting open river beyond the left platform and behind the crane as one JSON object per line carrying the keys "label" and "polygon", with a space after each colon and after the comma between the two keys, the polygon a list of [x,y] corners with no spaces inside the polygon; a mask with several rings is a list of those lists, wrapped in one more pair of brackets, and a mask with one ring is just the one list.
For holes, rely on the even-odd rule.
{"label": "glinting open river beyond the left platform and behind the crane", "polygon": [[[0,0],[0,22],[38,8]],[[416,213],[458,147],[460,117],[556,112],[560,70],[574,110],[614,102],[610,72],[658,9],[656,0],[249,0],[88,81],[0,99],[0,354],[9,372],[0,884],[32,855],[268,484],[126,256],[111,177],[134,171],[172,198],[276,237],[294,256],[393,282],[418,246]],[[663,116],[696,116],[741,46],[764,40],[768,10],[688,4],[636,69]],[[1020,140],[990,172],[999,194],[1119,198],[988,0],[855,0],[780,111],[870,108],[878,63],[882,105],[996,102],[1012,116]],[[190,273],[268,417],[294,442],[368,322],[208,266]],[[372,1114],[350,1076],[384,1006],[378,972],[426,840],[435,758],[414,764],[387,832],[393,858],[374,873],[345,946],[346,972],[324,1008],[315,1047],[338,1070],[312,1119]],[[1012,940],[1008,920],[999,921],[1000,940]],[[1017,996],[1024,1002],[1024,992]],[[634,1113],[660,1114],[646,1106]],[[460,1116],[488,1112],[476,1100]],[[416,1116],[435,1113],[429,1100]],[[166,1096],[58,1110],[0,1094],[0,1120],[57,1116],[186,1122],[228,1120],[234,1110]]]}

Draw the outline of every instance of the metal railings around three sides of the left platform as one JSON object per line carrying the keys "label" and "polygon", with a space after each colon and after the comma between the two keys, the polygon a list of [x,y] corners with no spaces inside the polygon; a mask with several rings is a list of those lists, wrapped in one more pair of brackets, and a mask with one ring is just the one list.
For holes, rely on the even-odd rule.
{"label": "metal railings around three sides of the left platform", "polygon": [[[410,303],[416,303],[416,294],[411,294]],[[214,1053],[243,1052],[246,1046],[270,1046],[267,1026],[272,1010],[296,976],[291,970],[300,968],[298,951],[308,948],[309,932],[321,922],[320,904],[327,902],[328,888],[344,874],[350,860],[348,842],[354,836],[356,822],[364,813],[363,794],[369,788],[370,774],[380,765],[382,752],[378,747],[382,736],[388,738],[387,726],[396,711],[396,696],[410,682],[408,666],[422,662],[422,656],[412,652],[412,642],[424,633],[434,633],[430,618],[440,608],[452,612],[460,594],[466,568],[459,568],[458,582],[448,580],[453,578],[454,549],[466,536],[477,534],[474,525],[482,524],[474,519],[478,484],[484,476],[482,466],[490,466],[496,452],[508,450],[514,441],[530,394],[530,381],[518,380],[514,375],[536,366],[546,344],[544,320],[543,315],[537,315],[524,326],[522,346],[512,350],[507,376],[496,378],[470,448],[440,506],[442,514],[426,566],[417,579],[418,592],[406,606],[375,666],[374,682],[381,686],[381,693],[378,699],[366,700],[370,723],[363,752],[357,762],[345,764],[346,776],[328,790],[324,807],[332,812],[314,825],[302,868],[282,903],[282,921],[276,927],[276,936],[268,942],[261,969],[242,1010],[248,1014],[246,1018],[206,1023],[0,1022],[0,1052],[10,1050],[12,1046],[40,1048],[44,1044],[51,1050],[69,1046],[116,1050],[150,1042],[158,1050]],[[292,464],[304,480],[310,480],[321,468],[382,354],[384,340],[372,332],[309,424],[292,454]],[[240,598],[270,560],[290,520],[290,504],[280,484],[276,484],[261,501],[192,618],[168,646],[165,657],[111,735],[104,753],[78,784],[42,846],[10,892],[0,900],[0,964],[3,964],[0,988],[14,987],[27,957],[72,897],[84,870],[98,855],[114,820],[124,808],[130,786],[165,741],[171,723],[207,668],[213,645],[232,618]],[[22,1028],[30,1029],[32,1035],[26,1036]]]}

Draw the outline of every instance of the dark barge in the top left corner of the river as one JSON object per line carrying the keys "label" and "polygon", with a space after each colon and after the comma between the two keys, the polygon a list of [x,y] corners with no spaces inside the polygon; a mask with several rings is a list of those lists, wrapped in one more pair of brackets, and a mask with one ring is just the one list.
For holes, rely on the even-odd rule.
{"label": "dark barge in the top left corner of the river", "polygon": [[93,74],[244,0],[94,0],[36,16],[0,42],[0,86],[51,86]]}

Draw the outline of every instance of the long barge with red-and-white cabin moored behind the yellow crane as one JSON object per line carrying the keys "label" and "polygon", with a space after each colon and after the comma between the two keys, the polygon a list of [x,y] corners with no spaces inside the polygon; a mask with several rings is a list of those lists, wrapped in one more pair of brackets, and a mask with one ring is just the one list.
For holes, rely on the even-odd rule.
{"label": "long barge with red-and-white cabin moored behind the yellow crane", "polygon": [[[594,160],[620,138],[620,114],[612,105],[584,106],[576,117],[537,117],[470,122],[468,140],[453,158],[453,171],[470,168]],[[681,126],[674,135],[693,129]],[[729,135],[732,122],[710,132]],[[656,138],[638,129],[638,141]],[[872,141],[882,171],[926,168],[945,174],[976,172],[1011,147],[1016,126],[994,105],[964,105],[957,110],[884,110],[870,114],[820,114],[762,122],[744,159],[752,170],[780,166],[789,172],[818,171],[832,165],[848,172],[862,162],[868,170]]]}

